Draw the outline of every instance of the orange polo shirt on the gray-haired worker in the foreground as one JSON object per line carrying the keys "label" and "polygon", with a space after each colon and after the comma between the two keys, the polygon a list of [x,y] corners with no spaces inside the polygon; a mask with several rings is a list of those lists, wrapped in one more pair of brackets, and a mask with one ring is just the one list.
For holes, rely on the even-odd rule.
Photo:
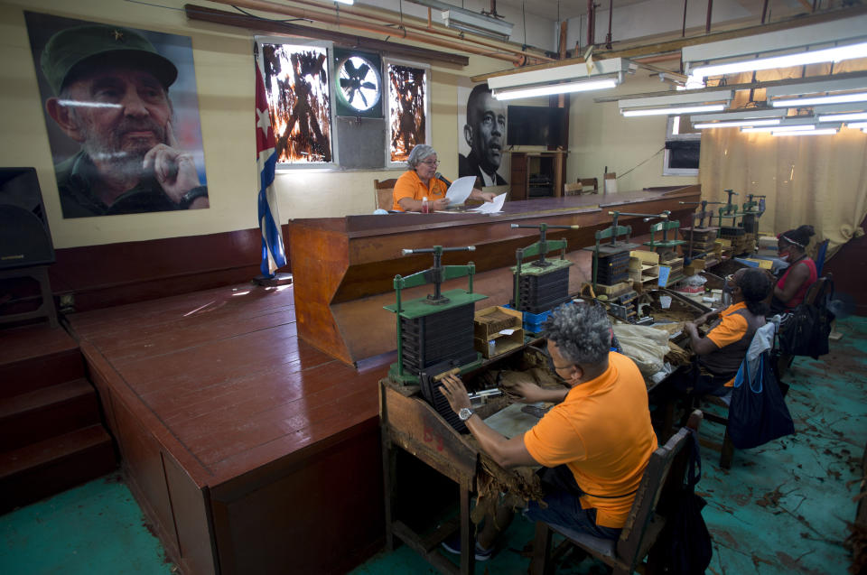
{"label": "orange polo shirt on the gray-haired worker in the foreground", "polygon": [[580,499],[582,507],[596,508],[597,524],[620,528],[657,450],[657,435],[638,366],[613,351],[608,362],[601,376],[575,385],[545,413],[524,434],[524,445],[545,467],[566,464],[588,494]]}

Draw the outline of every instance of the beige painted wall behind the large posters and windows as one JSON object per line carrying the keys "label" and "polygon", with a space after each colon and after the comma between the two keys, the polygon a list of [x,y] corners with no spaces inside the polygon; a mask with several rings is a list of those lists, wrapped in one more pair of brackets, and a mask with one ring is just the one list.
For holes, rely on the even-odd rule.
{"label": "beige painted wall behind the large posters and windows", "polygon": [[[181,8],[182,0],[161,5]],[[157,32],[191,36],[201,131],[210,192],[210,209],[160,212],[110,218],[63,219],[51,162],[51,150],[42,115],[36,71],[23,19],[23,10],[117,23]],[[0,165],[34,166],[51,224],[54,246],[92,246],[172,236],[192,236],[256,227],[255,142],[253,128],[254,81],[252,34],[210,23],[188,22],[179,10],[127,2],[30,0],[0,3],[0,52],[3,70],[3,106],[0,123]],[[466,68],[433,64],[431,121],[433,146],[443,162],[441,171],[456,176],[457,84],[472,76],[508,68],[502,60],[471,57]],[[640,91],[632,87],[629,91]],[[651,84],[658,89],[658,82]],[[534,102],[535,103],[535,102]],[[544,102],[539,102],[544,104]],[[664,119],[620,118],[614,104],[592,103],[592,96],[574,97],[573,141],[568,161],[570,180],[579,175],[601,177],[605,164],[623,172],[662,146]],[[661,155],[620,185],[621,190],[641,185],[666,185],[695,178],[663,178]],[[401,171],[280,172],[276,190],[281,219],[368,214],[374,209],[372,181]]]}

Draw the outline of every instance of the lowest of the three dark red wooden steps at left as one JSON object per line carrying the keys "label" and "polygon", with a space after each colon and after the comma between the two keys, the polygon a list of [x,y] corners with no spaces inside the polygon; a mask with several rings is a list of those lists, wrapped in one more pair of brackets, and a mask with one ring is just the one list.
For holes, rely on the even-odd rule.
{"label": "lowest of the three dark red wooden steps at left", "polygon": [[116,465],[102,425],[0,453],[0,514],[103,476]]}

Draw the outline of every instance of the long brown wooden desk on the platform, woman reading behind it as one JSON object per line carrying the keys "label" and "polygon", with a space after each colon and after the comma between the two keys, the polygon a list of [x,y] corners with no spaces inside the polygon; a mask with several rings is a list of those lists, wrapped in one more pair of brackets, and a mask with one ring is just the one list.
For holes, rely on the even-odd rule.
{"label": "long brown wooden desk on the platform, woman reading behind it", "polygon": [[[578,225],[578,230],[549,230],[548,238],[565,237],[570,250],[591,246],[596,230],[611,225],[611,209],[658,213],[668,209],[673,218],[685,218],[691,207],[679,201],[697,201],[700,186],[657,188],[611,195],[511,201],[503,213],[396,214],[345,218],[292,219],[289,253],[294,275],[298,335],[315,348],[349,364],[396,348],[394,315],[382,309],[394,302],[396,274],[414,274],[429,268],[429,255],[402,256],[403,248],[476,246],[475,252],[456,252],[443,264],[476,265],[476,292],[489,296],[479,307],[504,305],[511,297],[510,272],[517,248],[538,238],[534,229],[512,229],[510,224]],[[633,227],[633,235],[646,233],[640,218],[620,218]],[[466,278],[443,289],[466,286]],[[423,297],[428,289],[406,290],[405,298]]]}

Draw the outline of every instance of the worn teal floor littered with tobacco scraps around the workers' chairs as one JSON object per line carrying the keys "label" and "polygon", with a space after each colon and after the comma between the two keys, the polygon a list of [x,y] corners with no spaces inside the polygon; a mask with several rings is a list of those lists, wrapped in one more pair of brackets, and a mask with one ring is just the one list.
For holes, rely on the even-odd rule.
{"label": "worn teal floor littered with tobacco scraps around the workers' chairs", "polygon": [[[792,575],[846,572],[843,541],[855,516],[861,458],[867,442],[867,318],[838,321],[843,339],[814,360],[797,357],[784,377],[795,435],[735,451],[732,468],[702,447],[704,521],[713,538],[714,575]],[[722,426],[704,422],[700,435],[722,441]],[[533,526],[516,519],[499,553],[477,573],[527,572],[524,553]],[[352,571],[434,573],[415,552],[399,547]],[[558,573],[604,573],[601,564],[564,561]]]}

